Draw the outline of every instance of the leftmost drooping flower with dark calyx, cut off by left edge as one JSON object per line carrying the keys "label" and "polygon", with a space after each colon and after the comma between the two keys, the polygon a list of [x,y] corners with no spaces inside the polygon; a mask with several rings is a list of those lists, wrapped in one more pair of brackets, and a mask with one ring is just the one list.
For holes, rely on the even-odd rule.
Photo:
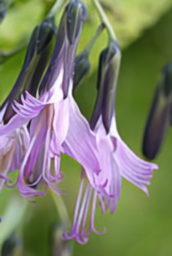
{"label": "leftmost drooping flower with dark calyx, cut off by left edge", "polygon": [[[33,96],[49,61],[54,34],[52,20],[44,20],[36,26],[30,39],[26,57],[19,77],[9,96],[0,107],[0,129],[4,129],[15,116],[13,100],[20,101],[20,93],[28,90]],[[20,168],[29,147],[30,135],[26,124],[0,136],[0,189],[7,178],[7,173]]]}

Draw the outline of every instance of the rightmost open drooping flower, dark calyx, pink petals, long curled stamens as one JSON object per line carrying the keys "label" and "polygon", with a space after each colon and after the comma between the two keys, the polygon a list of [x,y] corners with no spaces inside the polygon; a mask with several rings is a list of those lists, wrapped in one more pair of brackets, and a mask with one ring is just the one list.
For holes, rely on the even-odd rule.
{"label": "rightmost open drooping flower, dark calyx, pink petals, long curled stamens", "polygon": [[[121,178],[125,177],[141,188],[146,195],[153,169],[158,166],[137,157],[120,138],[115,120],[115,94],[118,80],[121,53],[116,42],[110,42],[102,52],[99,60],[97,82],[98,96],[90,127],[96,134],[97,159],[99,172],[88,169],[85,160],[77,159],[83,166],[82,179],[78,192],[72,231],[64,232],[63,239],[74,238],[79,243],[88,241],[91,230],[98,232],[94,226],[97,201],[102,212],[107,209],[113,213],[118,204]],[[82,148],[72,148],[70,141],[72,131],[68,131],[63,147],[66,154],[73,158],[84,155]],[[78,150],[79,149],[79,153]],[[83,153],[83,154],[82,154]],[[85,187],[85,183],[87,183]],[[104,232],[105,230],[103,230]]]}

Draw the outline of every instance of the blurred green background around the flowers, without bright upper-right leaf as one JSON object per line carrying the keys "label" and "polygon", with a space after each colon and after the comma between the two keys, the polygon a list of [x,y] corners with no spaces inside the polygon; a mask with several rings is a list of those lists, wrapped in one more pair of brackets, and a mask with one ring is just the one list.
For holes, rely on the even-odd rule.
{"label": "blurred green background around the flowers, without bright upper-right leaf", "polygon": [[[21,42],[27,42],[32,29],[43,19],[53,2],[51,0],[16,1],[0,25],[0,49],[11,49]],[[85,2],[89,6],[89,16],[79,51],[87,44],[98,24],[98,17],[95,17],[95,9],[90,0]],[[104,0],[104,2],[110,4],[106,6],[107,15],[122,45],[122,64],[116,97],[118,131],[129,147],[143,158],[141,154],[143,130],[158,75],[163,65],[172,60],[172,1]],[[111,10],[108,9],[109,7]],[[93,62],[92,70],[75,94],[80,109],[88,119],[96,98],[98,56],[105,46],[106,35],[103,33],[90,57]],[[0,64],[1,102],[19,74],[25,52],[26,49]],[[123,179],[115,214],[110,215],[107,212],[102,215],[100,209],[96,212],[96,227],[101,230],[105,226],[106,233],[90,234],[89,242],[85,246],[75,242],[74,256],[172,255],[171,141],[172,131],[169,130],[163,148],[155,160],[159,170],[153,173],[149,198],[140,189]],[[62,194],[62,197],[72,220],[80,182],[80,166],[69,157],[63,156],[61,169],[64,171],[64,180],[60,188],[68,192]],[[9,202],[10,204],[13,202],[11,209],[8,209]],[[0,214],[5,224],[0,224],[0,243],[13,231],[14,226],[18,225],[18,232],[24,237],[24,249],[30,253],[28,255],[49,256],[50,226],[60,221],[53,199],[48,193],[45,197],[36,199],[36,202],[29,202],[27,206],[25,204],[26,202],[15,189],[2,190]]]}

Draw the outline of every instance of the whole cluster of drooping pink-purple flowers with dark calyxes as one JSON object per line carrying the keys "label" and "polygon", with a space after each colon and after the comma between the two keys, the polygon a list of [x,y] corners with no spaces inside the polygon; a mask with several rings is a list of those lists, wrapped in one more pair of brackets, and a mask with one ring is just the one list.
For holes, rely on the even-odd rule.
{"label": "whole cluster of drooping pink-purple flowers with dark calyxes", "polygon": [[[43,196],[48,187],[60,193],[61,154],[81,164],[72,230],[64,231],[62,237],[82,244],[91,230],[102,233],[94,225],[96,207],[101,205],[103,213],[115,211],[122,177],[148,195],[146,185],[153,169],[158,169],[137,157],[117,131],[115,95],[121,51],[115,37],[109,37],[100,54],[97,100],[90,122],[75,102],[73,92],[89,71],[95,39],[103,29],[112,33],[102,20],[95,37],[76,56],[86,16],[85,4],[71,0],[58,30],[49,17],[36,27],[19,77],[0,108],[1,187],[17,187],[26,198]],[[8,173],[17,169],[17,181],[11,184]]]}

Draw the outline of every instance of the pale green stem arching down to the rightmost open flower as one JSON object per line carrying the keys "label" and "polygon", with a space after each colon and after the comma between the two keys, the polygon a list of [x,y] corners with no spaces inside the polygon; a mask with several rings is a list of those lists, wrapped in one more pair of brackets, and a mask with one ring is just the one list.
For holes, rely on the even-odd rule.
{"label": "pale green stem arching down to the rightmost open flower", "polygon": [[107,16],[106,16],[101,4],[99,3],[99,0],[92,0],[92,1],[97,9],[97,12],[99,13],[102,23],[104,23],[104,25],[106,26],[107,32],[109,34],[109,41],[111,41],[111,40],[117,41],[115,32],[114,32],[109,20],[107,19]]}

